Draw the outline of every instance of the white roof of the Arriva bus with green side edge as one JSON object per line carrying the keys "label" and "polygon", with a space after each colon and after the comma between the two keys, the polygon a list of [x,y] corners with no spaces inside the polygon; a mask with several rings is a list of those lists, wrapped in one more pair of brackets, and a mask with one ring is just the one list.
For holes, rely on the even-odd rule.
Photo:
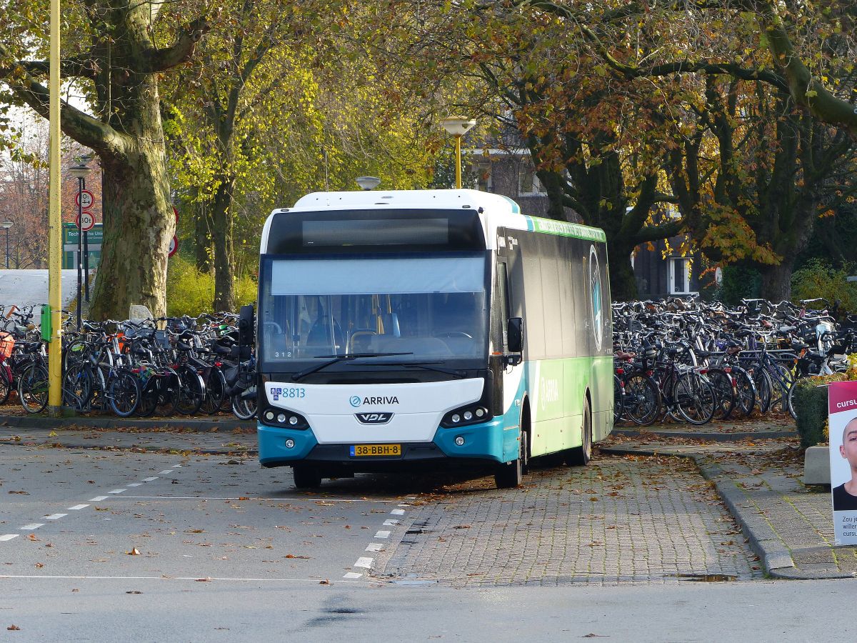
{"label": "white roof of the Arriva bus with green side edge", "polygon": [[267,237],[273,215],[285,212],[319,212],[324,210],[388,209],[458,209],[473,208],[480,213],[489,246],[496,243],[497,228],[529,230],[563,237],[578,237],[604,242],[600,228],[567,223],[555,219],[532,217],[521,212],[515,201],[503,195],[476,189],[374,189],[343,192],[312,192],[300,198],[294,207],[278,207],[265,222],[261,251],[267,249]]}

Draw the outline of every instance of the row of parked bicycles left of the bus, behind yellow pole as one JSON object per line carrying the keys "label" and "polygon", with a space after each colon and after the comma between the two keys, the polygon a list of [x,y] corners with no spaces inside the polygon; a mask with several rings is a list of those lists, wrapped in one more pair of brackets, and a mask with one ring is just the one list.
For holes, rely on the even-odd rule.
{"label": "row of parked bicycles left of the bus, behind yellow pole", "polygon": [[[17,393],[27,412],[48,403],[48,345],[34,307],[3,315],[0,404]],[[83,322],[63,311],[63,406],[122,418],[215,414],[241,419],[256,410],[255,357],[241,346],[237,315]]]}

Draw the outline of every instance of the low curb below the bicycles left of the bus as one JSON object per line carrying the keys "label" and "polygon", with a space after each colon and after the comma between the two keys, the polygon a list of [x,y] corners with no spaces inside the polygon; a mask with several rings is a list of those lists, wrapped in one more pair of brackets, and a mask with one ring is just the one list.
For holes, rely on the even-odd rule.
{"label": "low curb below the bicycles left of the bus", "polygon": [[74,418],[49,418],[47,416],[0,415],[0,428],[5,429],[183,429],[210,431],[214,427],[220,430],[256,429],[255,421],[247,422],[236,418],[104,418],[76,416]]}

